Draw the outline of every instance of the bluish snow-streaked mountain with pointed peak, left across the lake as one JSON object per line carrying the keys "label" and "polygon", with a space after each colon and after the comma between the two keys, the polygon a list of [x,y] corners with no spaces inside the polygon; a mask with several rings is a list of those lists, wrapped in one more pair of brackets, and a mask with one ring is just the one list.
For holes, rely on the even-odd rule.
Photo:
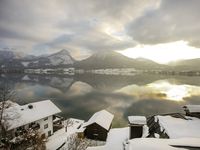
{"label": "bluish snow-streaked mountain with pointed peak, left across the lake", "polygon": [[55,68],[71,66],[74,63],[67,50],[46,56],[19,55],[12,51],[0,51],[0,66],[4,68]]}

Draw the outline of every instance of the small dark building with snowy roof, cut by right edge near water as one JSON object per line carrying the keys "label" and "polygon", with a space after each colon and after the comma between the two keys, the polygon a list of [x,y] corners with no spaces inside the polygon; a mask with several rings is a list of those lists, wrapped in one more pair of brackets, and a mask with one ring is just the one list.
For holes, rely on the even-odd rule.
{"label": "small dark building with snowy roof, cut by right edge near water", "polygon": [[183,106],[186,116],[200,118],[200,105],[185,105]]}

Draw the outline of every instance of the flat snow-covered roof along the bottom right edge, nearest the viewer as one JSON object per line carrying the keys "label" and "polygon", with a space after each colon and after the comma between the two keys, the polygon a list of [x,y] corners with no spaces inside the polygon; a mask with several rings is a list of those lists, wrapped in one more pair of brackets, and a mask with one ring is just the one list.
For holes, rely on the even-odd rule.
{"label": "flat snow-covered roof along the bottom right edge, nearest the viewer", "polygon": [[[200,147],[199,138],[156,139],[137,138],[128,141],[126,150],[180,150],[184,147]],[[175,147],[177,146],[177,147]],[[183,147],[183,148],[180,148]]]}

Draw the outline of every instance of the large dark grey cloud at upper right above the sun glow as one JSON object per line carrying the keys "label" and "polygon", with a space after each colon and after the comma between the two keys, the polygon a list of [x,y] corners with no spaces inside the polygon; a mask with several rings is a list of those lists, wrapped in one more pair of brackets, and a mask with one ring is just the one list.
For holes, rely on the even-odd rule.
{"label": "large dark grey cloud at upper right above the sun glow", "polygon": [[142,44],[184,40],[200,46],[200,1],[162,0],[127,26],[127,33]]}

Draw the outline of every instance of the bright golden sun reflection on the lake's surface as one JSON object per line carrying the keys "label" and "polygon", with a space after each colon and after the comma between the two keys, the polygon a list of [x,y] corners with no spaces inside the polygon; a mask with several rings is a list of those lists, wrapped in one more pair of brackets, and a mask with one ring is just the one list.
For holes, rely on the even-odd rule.
{"label": "bright golden sun reflection on the lake's surface", "polygon": [[144,86],[129,85],[116,92],[132,95],[138,99],[163,99],[181,102],[184,98],[199,96],[200,87],[186,85],[186,84],[175,84],[168,80],[159,80]]}

